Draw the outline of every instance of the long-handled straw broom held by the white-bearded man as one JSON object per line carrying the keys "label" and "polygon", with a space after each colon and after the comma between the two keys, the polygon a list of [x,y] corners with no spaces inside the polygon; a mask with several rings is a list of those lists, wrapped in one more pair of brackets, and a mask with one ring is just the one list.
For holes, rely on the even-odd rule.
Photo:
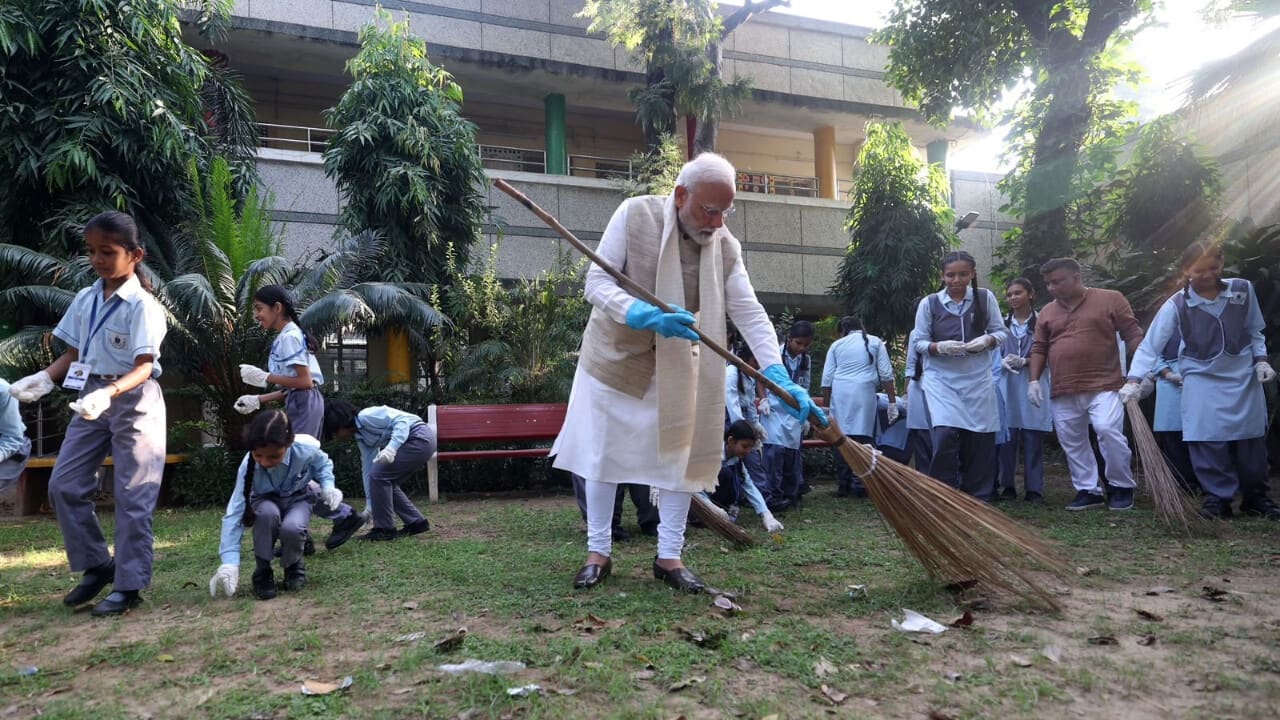
{"label": "long-handled straw broom held by the white-bearded man", "polygon": [[[538,215],[579,252],[609,273],[627,292],[671,313],[671,306],[609,266],[522,192],[502,179],[495,179],[494,187]],[[791,407],[799,406],[795,398],[759,370],[721,347],[696,327],[694,332],[704,347],[755,378],[755,382],[764,383]],[[1066,562],[1047,541],[989,505],[895,462],[873,447],[850,441],[835,419],[828,418],[828,424],[823,425],[817,415],[810,415],[809,421],[817,428],[818,436],[836,447],[845,462],[863,478],[876,509],[931,575],[945,582],[973,580],[988,589],[1002,589],[1052,610],[1061,609],[1057,598],[1030,574],[1038,568],[1064,580],[1070,578]]]}

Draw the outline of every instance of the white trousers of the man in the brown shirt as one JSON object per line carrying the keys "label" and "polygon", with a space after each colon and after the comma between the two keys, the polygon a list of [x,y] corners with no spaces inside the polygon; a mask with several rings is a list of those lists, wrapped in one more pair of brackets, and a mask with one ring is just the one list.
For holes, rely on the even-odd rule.
{"label": "white trousers of the man in the brown shirt", "polygon": [[1075,392],[1053,396],[1053,430],[1071,469],[1076,491],[1102,493],[1098,484],[1098,461],[1089,446],[1089,425],[1098,436],[1098,450],[1107,462],[1107,484],[1132,488],[1133,452],[1124,437],[1124,406],[1115,391]]}

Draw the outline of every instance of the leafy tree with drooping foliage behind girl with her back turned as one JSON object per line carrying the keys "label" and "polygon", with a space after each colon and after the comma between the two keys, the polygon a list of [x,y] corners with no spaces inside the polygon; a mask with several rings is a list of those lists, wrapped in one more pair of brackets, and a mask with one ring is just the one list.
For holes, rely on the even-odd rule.
{"label": "leafy tree with drooping foliage behind girl with her back turned", "polygon": [[893,343],[911,332],[914,300],[936,288],[956,241],[946,176],[920,160],[901,123],[869,123],[851,195],[849,249],[827,292]]}

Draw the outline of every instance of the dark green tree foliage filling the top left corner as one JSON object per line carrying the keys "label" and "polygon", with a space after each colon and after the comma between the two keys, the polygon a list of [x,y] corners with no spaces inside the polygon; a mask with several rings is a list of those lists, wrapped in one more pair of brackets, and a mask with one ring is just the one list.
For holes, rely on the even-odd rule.
{"label": "dark green tree foliage filling the top left corner", "polygon": [[[210,20],[229,6],[196,5]],[[0,6],[0,241],[67,256],[86,219],[119,209],[156,242],[154,265],[175,263],[168,236],[191,208],[175,178],[255,145],[247,96],[183,42],[175,3]]]}

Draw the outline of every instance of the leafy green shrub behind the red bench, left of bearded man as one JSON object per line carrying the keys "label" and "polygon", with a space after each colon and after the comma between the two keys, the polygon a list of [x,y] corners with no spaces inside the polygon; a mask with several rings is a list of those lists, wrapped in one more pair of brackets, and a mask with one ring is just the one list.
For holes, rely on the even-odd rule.
{"label": "leafy green shrub behind the red bench, left of bearded man", "polygon": [[467,402],[564,402],[591,307],[582,297],[586,260],[567,254],[532,279],[503,284],[494,246],[481,273],[460,275],[447,307],[453,328],[435,347],[445,397]]}

